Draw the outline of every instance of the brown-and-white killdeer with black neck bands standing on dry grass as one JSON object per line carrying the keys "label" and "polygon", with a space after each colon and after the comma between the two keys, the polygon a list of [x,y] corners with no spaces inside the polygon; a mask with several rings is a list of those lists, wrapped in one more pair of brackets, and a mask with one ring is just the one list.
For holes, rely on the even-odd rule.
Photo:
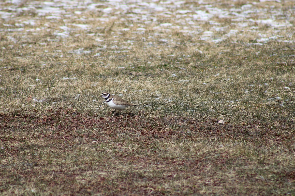
{"label": "brown-and-white killdeer with black neck bands standing on dry grass", "polygon": [[[121,110],[125,109],[128,106],[139,107],[139,105],[136,105],[133,103],[128,103],[127,101],[125,101],[121,97],[110,95],[106,91],[101,92],[101,96],[99,96],[99,97],[103,97],[106,100],[106,103],[108,103],[109,107],[112,109],[115,109],[115,113],[117,110],[119,110],[120,111],[119,115],[121,115]],[[114,117],[115,113],[113,114],[112,117]]]}

